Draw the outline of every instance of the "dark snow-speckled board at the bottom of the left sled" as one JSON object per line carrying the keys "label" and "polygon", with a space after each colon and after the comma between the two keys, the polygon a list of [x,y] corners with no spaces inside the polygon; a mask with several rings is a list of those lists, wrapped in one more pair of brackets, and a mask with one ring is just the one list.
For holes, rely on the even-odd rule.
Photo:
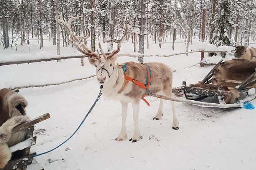
{"label": "dark snow-speckled board at the bottom of the left sled", "polygon": [[23,156],[19,159],[10,160],[7,165],[3,168],[3,170],[15,170],[17,168],[22,168],[24,166],[30,165],[33,160],[33,154]]}

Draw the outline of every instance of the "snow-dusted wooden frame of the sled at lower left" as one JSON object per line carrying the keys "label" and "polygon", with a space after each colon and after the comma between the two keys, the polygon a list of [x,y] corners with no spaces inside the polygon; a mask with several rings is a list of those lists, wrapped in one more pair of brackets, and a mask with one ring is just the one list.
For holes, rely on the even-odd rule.
{"label": "snow-dusted wooden frame of the sled at lower left", "polygon": [[36,136],[33,136],[34,125],[48,118],[50,118],[50,115],[49,113],[46,113],[13,128],[13,132],[27,129],[27,134],[25,141],[10,147],[12,154],[18,155],[18,157],[16,156],[15,159],[11,159],[7,165],[5,165],[3,170],[26,170],[27,168],[33,170],[44,170],[44,168],[41,167],[41,165],[33,158],[36,153],[30,153],[30,147],[36,144]]}

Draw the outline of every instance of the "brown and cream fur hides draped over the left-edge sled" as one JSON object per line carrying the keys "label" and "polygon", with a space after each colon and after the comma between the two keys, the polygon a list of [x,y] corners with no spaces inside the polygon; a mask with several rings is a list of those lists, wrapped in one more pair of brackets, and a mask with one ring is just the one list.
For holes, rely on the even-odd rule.
{"label": "brown and cream fur hides draped over the left-edge sled", "polygon": [[[17,125],[27,122],[27,101],[18,93],[3,88],[0,90],[0,169],[5,167],[12,155],[9,147],[25,140],[26,130],[13,133]],[[18,152],[16,153],[19,156]]]}

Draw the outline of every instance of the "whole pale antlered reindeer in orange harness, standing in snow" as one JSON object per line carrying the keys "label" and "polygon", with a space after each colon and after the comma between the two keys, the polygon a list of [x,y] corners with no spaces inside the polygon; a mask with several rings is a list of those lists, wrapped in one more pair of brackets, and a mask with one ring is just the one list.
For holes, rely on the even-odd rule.
{"label": "whole pale antlered reindeer in orange harness, standing in snow", "polygon": [[[122,125],[120,134],[115,138],[116,141],[123,141],[127,138],[126,135],[126,115],[127,115],[127,106],[128,103],[131,103],[133,106],[133,120],[134,120],[134,134],[130,141],[136,142],[139,141],[142,136],[139,131],[139,101],[144,99],[146,90],[151,93],[158,93],[162,95],[172,96],[172,70],[169,66],[163,63],[135,63],[135,62],[126,62],[123,64],[115,65],[117,60],[117,53],[120,51],[121,42],[125,35],[127,34],[128,26],[126,25],[123,36],[120,40],[112,38],[112,41],[117,43],[117,49],[113,50],[111,53],[106,54],[102,50],[100,43],[98,46],[100,48],[101,55],[97,55],[95,52],[91,51],[83,43],[83,38],[75,37],[74,33],[71,31],[70,24],[71,21],[77,19],[78,17],[73,17],[69,19],[66,23],[62,16],[59,14],[56,16],[56,20],[64,26],[69,32],[70,38],[67,38],[69,42],[74,45],[77,50],[87,55],[89,58],[89,63],[95,67],[97,74],[97,81],[100,85],[103,86],[102,93],[106,98],[119,100],[121,103],[121,117]],[[107,40],[105,40],[107,41]],[[149,69],[151,73],[149,72]],[[148,75],[151,74],[151,77]],[[130,78],[130,80],[127,79]],[[132,78],[131,78],[132,77]],[[141,82],[146,82],[146,77],[148,77],[151,85],[147,84],[148,88],[145,87]],[[172,129],[179,129],[179,122],[176,117],[174,101],[171,101],[172,112],[173,112],[173,121]],[[160,99],[160,104],[156,116],[153,118],[155,120],[161,119],[162,117],[162,107],[163,99]]]}

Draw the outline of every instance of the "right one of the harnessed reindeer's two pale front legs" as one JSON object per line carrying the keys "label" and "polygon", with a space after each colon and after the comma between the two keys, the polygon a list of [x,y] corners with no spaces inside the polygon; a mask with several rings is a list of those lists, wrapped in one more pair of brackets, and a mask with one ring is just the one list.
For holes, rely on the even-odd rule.
{"label": "right one of the harnessed reindeer's two pale front legs", "polygon": [[136,142],[142,139],[139,132],[139,101],[132,103],[133,105],[133,121],[134,121],[134,134],[130,141]]}

